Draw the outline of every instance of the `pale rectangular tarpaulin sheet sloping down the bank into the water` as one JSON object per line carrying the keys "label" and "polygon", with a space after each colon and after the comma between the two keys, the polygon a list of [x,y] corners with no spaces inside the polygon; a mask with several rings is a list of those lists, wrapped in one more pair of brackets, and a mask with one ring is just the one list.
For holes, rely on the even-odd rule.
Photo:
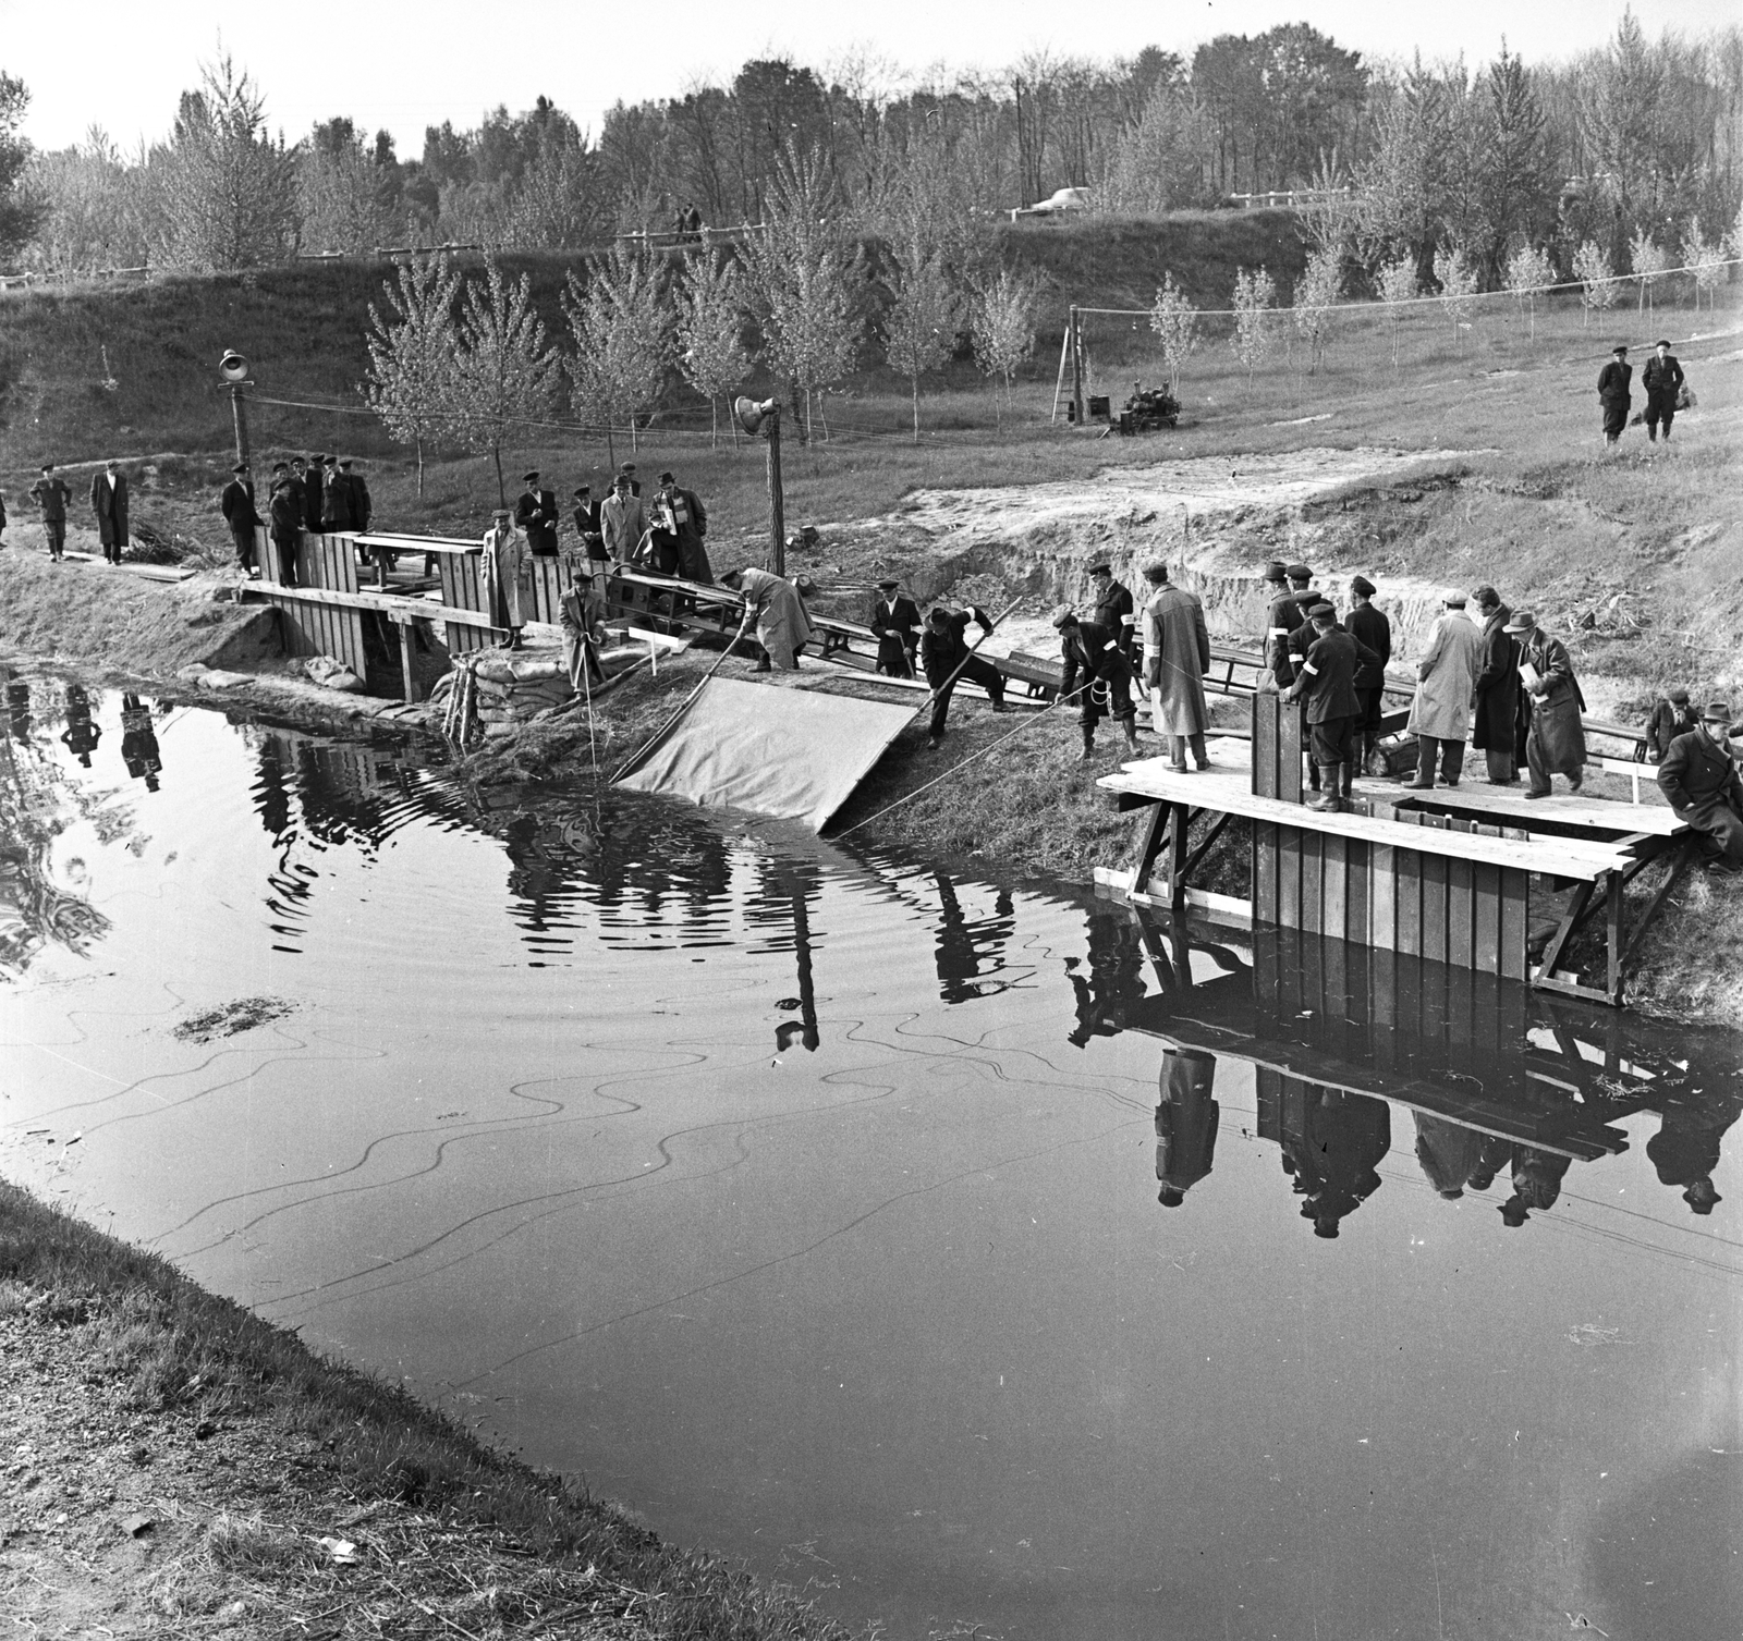
{"label": "pale rectangular tarpaulin sheet sloping down the bank into the water", "polygon": [[711,678],[617,784],[821,833],[910,723],[912,706]]}

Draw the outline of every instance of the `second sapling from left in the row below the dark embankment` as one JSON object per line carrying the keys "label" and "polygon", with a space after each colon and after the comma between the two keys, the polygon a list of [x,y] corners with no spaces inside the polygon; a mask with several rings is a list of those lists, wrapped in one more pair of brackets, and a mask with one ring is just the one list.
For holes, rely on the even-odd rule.
{"label": "second sapling from left in the row below the dark embankment", "polygon": [[453,373],[451,422],[467,448],[490,451],[497,463],[497,505],[509,505],[502,446],[516,423],[551,415],[561,382],[544,321],[533,312],[532,279],[509,284],[493,256],[485,280],[467,280],[460,310],[460,350]]}

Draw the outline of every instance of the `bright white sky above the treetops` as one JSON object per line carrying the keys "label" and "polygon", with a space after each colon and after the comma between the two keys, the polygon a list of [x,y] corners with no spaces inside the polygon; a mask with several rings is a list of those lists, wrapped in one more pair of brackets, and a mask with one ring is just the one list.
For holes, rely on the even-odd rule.
{"label": "bright white sky above the treetops", "polygon": [[[1738,0],[1633,0],[1649,35],[1722,28]],[[1161,45],[1190,57],[1220,33],[1302,17],[1367,56],[1527,61],[1602,44],[1623,0],[0,0],[0,70],[24,80],[24,134],[64,148],[101,124],[124,148],[164,134],[176,99],[216,54],[218,33],[267,94],[291,139],[350,115],[394,132],[401,159],[424,127],[476,125],[486,108],[528,108],[539,92],[598,134],[619,98],[671,96],[729,78],[751,56],[821,66],[859,47],[910,71],[997,70],[1023,52],[1128,56]]]}

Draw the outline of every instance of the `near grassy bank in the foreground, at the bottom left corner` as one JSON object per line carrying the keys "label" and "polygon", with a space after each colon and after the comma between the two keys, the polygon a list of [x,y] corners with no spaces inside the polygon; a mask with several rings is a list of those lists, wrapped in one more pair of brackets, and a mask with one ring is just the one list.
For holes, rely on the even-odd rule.
{"label": "near grassy bank in the foreground, at the bottom left corner", "polygon": [[21,1632],[845,1634],[3,1183],[0,1394]]}

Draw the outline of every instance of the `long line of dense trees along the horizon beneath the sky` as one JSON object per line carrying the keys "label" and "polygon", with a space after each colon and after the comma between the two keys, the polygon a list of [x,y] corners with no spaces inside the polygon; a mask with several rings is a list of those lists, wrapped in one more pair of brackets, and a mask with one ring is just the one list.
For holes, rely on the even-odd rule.
{"label": "long line of dense trees along the horizon beneath the sky", "polygon": [[919,82],[863,52],[824,70],[760,59],[730,84],[619,103],[596,138],[540,96],[429,127],[417,159],[349,117],[288,145],[230,59],[136,153],[98,129],[31,153],[24,96],[0,75],[0,261],[51,274],[399,244],[584,249],[692,206],[715,226],[763,223],[795,155],[817,159],[863,237],[891,242],[920,186],[934,216],[962,219],[1060,186],[1110,216],[1344,190],[1333,232],[1372,277],[1408,260],[1428,282],[1455,251],[1482,289],[1525,249],[1570,277],[1590,242],[1631,272],[1642,237],[1717,242],[1743,199],[1743,30],[1651,40],[1631,14],[1598,51],[1527,64],[1502,47],[1476,68],[1370,61],[1306,23],[1190,57],[1032,52]]}

